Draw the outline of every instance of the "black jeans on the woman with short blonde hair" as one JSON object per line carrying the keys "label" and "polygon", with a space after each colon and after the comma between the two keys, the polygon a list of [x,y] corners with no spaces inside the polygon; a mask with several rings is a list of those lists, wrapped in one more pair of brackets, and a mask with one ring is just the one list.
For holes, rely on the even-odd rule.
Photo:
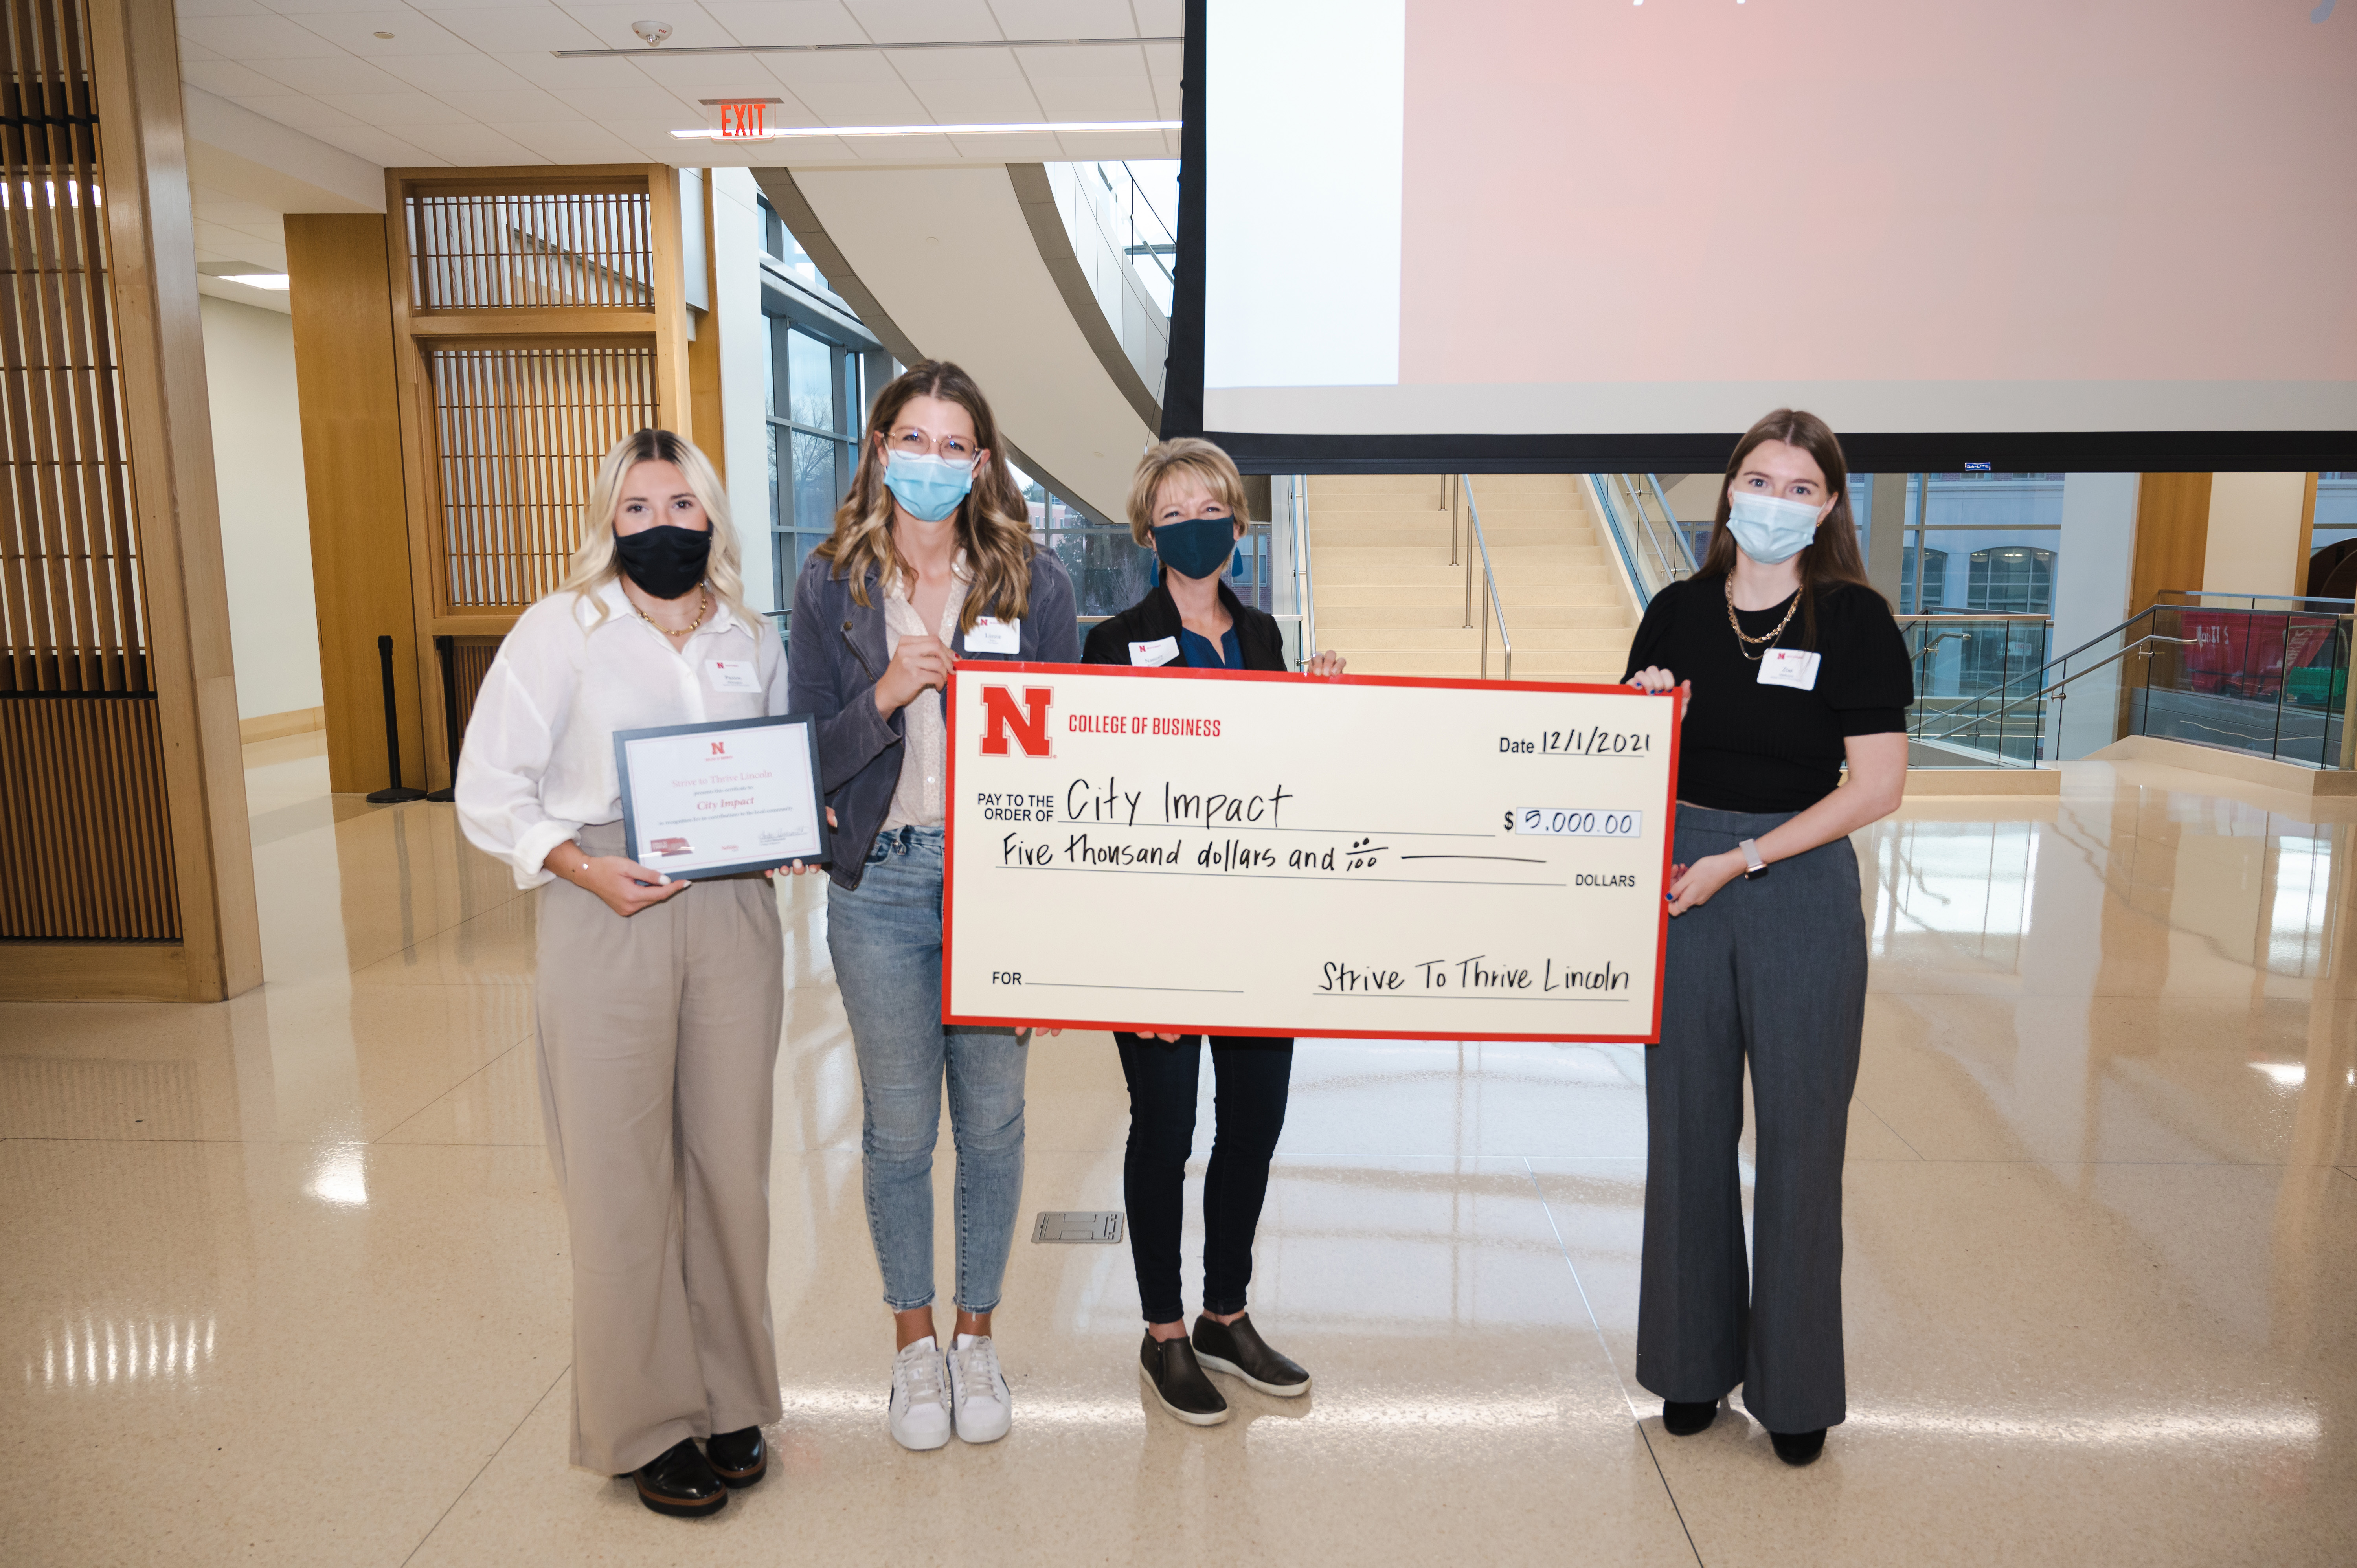
{"label": "black jeans on the woman with short blonde hair", "polygon": [[[1129,1257],[1138,1266],[1138,1304],[1148,1323],[1186,1316],[1178,1294],[1178,1228],[1186,1221],[1186,1158],[1195,1146],[1195,1085],[1202,1035],[1176,1042],[1113,1035],[1129,1080],[1129,1153],[1122,1195],[1129,1205]],[[1211,1035],[1214,1132],[1202,1181],[1202,1309],[1244,1311],[1252,1285],[1252,1233],[1268,1195],[1268,1158],[1285,1132],[1285,1092],[1294,1042],[1259,1035]]]}

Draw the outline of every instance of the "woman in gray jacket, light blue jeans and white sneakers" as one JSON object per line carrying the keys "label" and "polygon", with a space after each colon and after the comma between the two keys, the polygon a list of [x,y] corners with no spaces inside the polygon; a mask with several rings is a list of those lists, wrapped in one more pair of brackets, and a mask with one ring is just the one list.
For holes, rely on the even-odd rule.
{"label": "woman in gray jacket, light blue jeans and white sneakers", "polygon": [[[1023,1195],[1025,1035],[940,1023],[950,660],[1077,663],[1072,580],[1030,535],[981,387],[910,365],[877,394],[834,535],[794,585],[787,710],[818,714],[834,811],[827,950],[860,1063],[860,1179],[893,1313],[903,1448],[1006,1434],[990,1335]],[[957,1337],[933,1327],[940,1085],[957,1139]]]}

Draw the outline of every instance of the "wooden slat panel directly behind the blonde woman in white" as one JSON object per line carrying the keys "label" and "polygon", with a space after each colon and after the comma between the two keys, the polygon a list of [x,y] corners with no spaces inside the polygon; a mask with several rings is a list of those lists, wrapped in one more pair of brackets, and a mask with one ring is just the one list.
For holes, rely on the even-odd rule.
{"label": "wooden slat panel directly behind the blonde woman in white", "polygon": [[521,611],[580,545],[599,460],[655,424],[653,344],[427,347],[450,611]]}

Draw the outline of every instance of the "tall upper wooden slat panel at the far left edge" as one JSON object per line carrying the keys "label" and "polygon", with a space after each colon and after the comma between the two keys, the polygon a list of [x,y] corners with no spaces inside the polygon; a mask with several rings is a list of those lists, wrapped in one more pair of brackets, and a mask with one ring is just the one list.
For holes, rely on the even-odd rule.
{"label": "tall upper wooden slat panel at the far left edge", "polygon": [[0,691],[151,691],[80,0],[0,21]]}

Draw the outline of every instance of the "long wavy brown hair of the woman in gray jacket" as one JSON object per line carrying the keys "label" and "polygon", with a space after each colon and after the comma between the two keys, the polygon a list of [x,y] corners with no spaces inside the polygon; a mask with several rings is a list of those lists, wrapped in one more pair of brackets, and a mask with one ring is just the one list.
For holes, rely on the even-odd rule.
{"label": "long wavy brown hair of the woman in gray jacket", "polygon": [[973,472],[973,488],[957,502],[957,545],[973,568],[973,587],[959,625],[973,630],[978,615],[1021,620],[1030,613],[1030,505],[1016,488],[1014,469],[999,448],[999,424],[990,417],[990,403],[973,377],[945,358],[917,361],[877,394],[867,410],[867,434],[860,436],[860,467],[851,476],[851,493],[834,509],[834,533],[813,554],[834,561],[837,575],[851,578],[851,597],[867,604],[867,575],[874,573],[886,589],[907,575],[900,552],[891,542],[891,490],[884,488],[882,439],[900,420],[910,398],[940,398],[957,403],[973,420],[973,443],[990,453],[990,462]]}

